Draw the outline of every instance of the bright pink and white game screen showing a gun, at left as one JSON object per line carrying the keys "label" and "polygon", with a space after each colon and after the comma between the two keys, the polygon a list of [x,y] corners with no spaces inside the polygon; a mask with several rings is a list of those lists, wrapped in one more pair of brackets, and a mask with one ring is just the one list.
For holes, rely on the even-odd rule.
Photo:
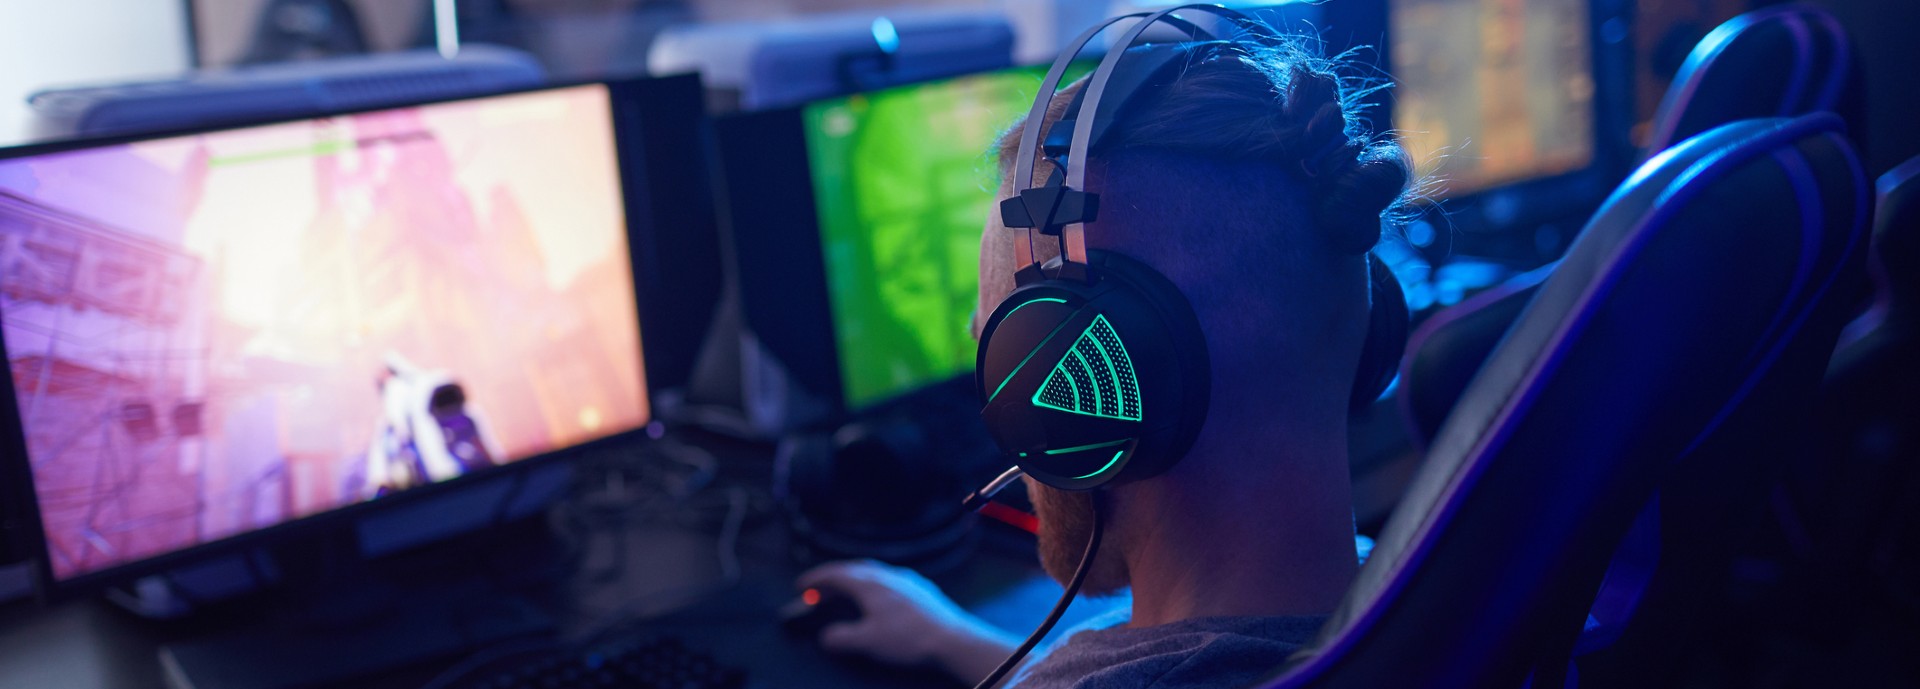
{"label": "bright pink and white game screen showing a gun, at left", "polygon": [[0,334],[54,578],[643,426],[609,100],[0,159]]}

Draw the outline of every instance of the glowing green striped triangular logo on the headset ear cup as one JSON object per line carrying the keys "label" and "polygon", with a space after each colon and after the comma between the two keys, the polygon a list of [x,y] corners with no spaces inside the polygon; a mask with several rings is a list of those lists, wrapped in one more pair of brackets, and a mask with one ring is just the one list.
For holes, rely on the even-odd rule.
{"label": "glowing green striped triangular logo on the headset ear cup", "polygon": [[1140,384],[1114,324],[1096,315],[1033,393],[1035,407],[1073,415],[1140,420]]}

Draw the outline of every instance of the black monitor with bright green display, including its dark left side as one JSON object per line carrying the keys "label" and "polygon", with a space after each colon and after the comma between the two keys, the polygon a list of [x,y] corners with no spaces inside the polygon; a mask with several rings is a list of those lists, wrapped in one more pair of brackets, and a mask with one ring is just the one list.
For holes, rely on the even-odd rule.
{"label": "black monitor with bright green display, including its dark left side", "polygon": [[989,71],[716,127],[747,321],[803,388],[860,409],[973,370],[993,144],[1043,77]]}

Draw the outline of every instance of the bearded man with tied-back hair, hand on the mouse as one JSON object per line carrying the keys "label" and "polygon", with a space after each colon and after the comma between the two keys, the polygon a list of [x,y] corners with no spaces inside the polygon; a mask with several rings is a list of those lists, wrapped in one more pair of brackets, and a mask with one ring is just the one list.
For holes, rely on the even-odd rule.
{"label": "bearded man with tied-back hair, hand on the mouse", "polygon": [[[1210,413],[1169,472],[1106,489],[1106,535],[1083,593],[1131,587],[1131,614],[1029,658],[1010,685],[1246,685],[1308,643],[1352,582],[1346,416],[1367,334],[1365,251],[1409,171],[1396,146],[1363,132],[1336,67],[1300,46],[1215,50],[1142,94],[1092,152],[1102,211],[1089,244],[1152,265],[1192,303],[1212,361]],[[1054,98],[1048,123],[1077,88]],[[1000,198],[1012,196],[1016,155],[1031,154],[1016,148],[1018,127],[1000,144]],[[1039,167],[1043,180],[1050,169]],[[1014,290],[1016,238],[989,213],[979,313]],[[1031,480],[1027,489],[1041,562],[1066,582],[1091,495]],[[828,651],[972,683],[1020,641],[908,570],[833,562],[799,583],[864,610],[822,631]]]}

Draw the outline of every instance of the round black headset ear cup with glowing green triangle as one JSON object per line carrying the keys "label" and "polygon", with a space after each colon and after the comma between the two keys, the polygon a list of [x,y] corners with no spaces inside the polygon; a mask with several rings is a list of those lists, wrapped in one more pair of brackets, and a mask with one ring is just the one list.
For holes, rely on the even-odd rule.
{"label": "round black headset ear cup with glowing green triangle", "polygon": [[1069,491],[1165,472],[1198,438],[1212,390],[1206,336],[1171,280],[1100,249],[1087,269],[1092,282],[1014,290],[975,361],[989,436],[1029,478]]}

